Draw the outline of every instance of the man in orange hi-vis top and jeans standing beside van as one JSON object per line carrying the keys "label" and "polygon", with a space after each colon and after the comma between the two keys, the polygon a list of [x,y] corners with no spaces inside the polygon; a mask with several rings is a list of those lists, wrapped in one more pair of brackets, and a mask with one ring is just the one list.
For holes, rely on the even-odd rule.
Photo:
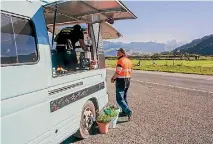
{"label": "man in orange hi-vis top and jeans standing beside van", "polygon": [[132,111],[128,106],[127,102],[127,91],[130,86],[130,78],[132,73],[132,62],[126,57],[126,52],[124,49],[120,48],[117,50],[118,61],[116,64],[116,71],[111,82],[116,82],[116,101],[118,105],[122,108],[121,115],[127,115],[130,121],[132,116]]}

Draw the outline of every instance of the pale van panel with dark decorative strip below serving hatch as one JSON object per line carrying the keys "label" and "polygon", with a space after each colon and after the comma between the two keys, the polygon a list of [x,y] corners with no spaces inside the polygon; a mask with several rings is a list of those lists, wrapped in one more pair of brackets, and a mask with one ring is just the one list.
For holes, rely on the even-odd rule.
{"label": "pale van panel with dark decorative strip below serving hatch", "polygon": [[[105,77],[105,71],[92,70],[52,79],[49,92],[54,92],[50,95],[52,98],[50,107],[51,127],[53,127],[51,131],[55,143],[60,143],[79,129],[82,108],[87,100],[91,98],[100,100],[99,109],[106,105],[108,97]],[[93,86],[102,82],[103,87],[93,89]],[[70,88],[66,88],[67,86]]]}

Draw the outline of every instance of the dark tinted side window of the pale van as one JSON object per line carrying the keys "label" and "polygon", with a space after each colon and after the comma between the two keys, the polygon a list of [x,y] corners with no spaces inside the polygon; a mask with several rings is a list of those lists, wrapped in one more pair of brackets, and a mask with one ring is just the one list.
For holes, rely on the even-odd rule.
{"label": "dark tinted side window of the pale van", "polygon": [[36,62],[36,47],[34,26],[29,19],[1,13],[1,64]]}

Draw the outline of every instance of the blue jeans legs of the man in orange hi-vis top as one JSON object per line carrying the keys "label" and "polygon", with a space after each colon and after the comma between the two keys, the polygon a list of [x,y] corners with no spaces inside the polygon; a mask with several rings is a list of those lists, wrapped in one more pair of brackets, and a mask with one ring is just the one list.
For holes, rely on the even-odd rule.
{"label": "blue jeans legs of the man in orange hi-vis top", "polygon": [[131,110],[124,100],[125,89],[116,88],[116,101],[121,107],[122,111],[125,112],[128,116],[131,114]]}

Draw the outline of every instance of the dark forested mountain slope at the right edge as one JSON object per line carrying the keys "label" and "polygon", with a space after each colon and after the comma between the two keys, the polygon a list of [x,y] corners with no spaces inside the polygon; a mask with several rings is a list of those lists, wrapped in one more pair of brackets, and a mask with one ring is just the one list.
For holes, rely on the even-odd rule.
{"label": "dark forested mountain slope at the right edge", "polygon": [[173,53],[189,53],[199,55],[213,55],[213,34],[195,39],[188,44],[176,48]]}

